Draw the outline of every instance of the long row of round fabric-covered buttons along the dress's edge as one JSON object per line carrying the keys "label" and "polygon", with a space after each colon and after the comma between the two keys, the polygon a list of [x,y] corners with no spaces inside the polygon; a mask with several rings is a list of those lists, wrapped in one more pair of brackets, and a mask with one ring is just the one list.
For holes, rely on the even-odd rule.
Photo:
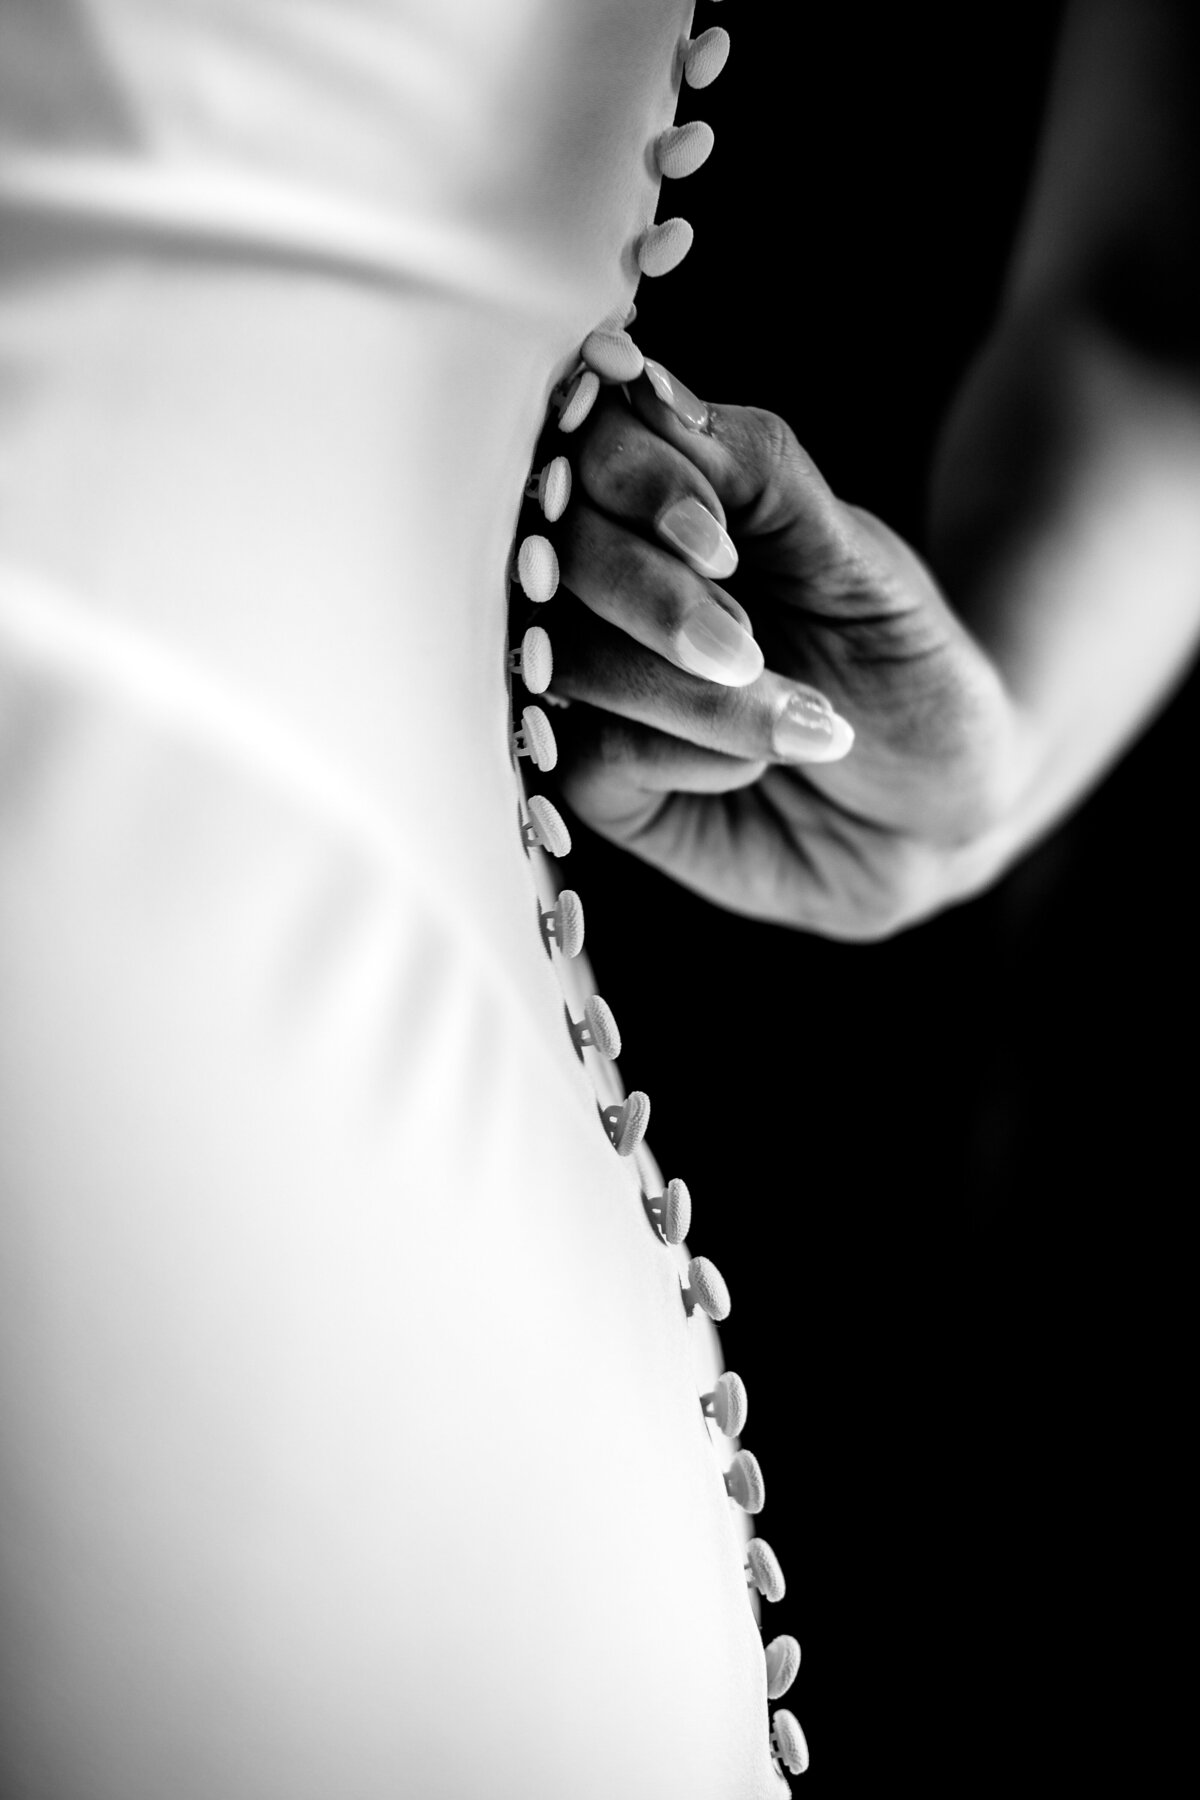
{"label": "long row of round fabric-covered buttons along the dress's edge", "polygon": [[[682,74],[689,86],[703,88],[725,67],[729,56],[729,34],[712,27],[700,38],[685,40],[682,45]],[[703,121],[691,121],[671,126],[655,146],[660,175],[680,178],[694,173],[712,151],[712,130]],[[666,220],[648,227],[637,243],[637,265],[644,275],[667,274],[678,266],[693,243],[693,229],[687,220]],[[619,315],[617,315],[619,317]],[[622,324],[630,324],[633,308],[624,315]],[[639,351],[628,331],[617,320],[604,320],[592,331],[581,347],[581,364],[570,385],[561,396],[558,425],[561,432],[574,432],[590,414],[599,394],[601,378],[608,382],[635,380],[644,367]],[[534,473],[525,490],[542,508],[547,522],[561,518],[570,499],[570,464],[567,457],[552,457]],[[534,605],[543,605],[554,598],[560,583],[558,556],[549,538],[540,533],[524,538],[515,562],[515,580],[525,598]],[[525,630],[520,650],[509,657],[513,673],[520,673],[525,688],[533,695],[547,691],[552,679],[552,650],[547,632],[533,625]],[[522,709],[522,725],[513,734],[515,756],[527,756],[540,770],[549,770],[558,760],[554,733],[542,707]],[[527,846],[540,844],[552,855],[567,855],[570,833],[561,815],[543,796],[531,796],[527,801],[529,823],[522,824]],[[547,945],[565,956],[576,956],[583,945],[583,909],[579,896],[572,889],[563,889],[552,909],[540,909],[540,927]],[[597,1049],[603,1057],[615,1058],[621,1053],[621,1033],[612,1010],[599,995],[592,995],[583,1019],[576,1021],[567,1012],[567,1026],[576,1053],[583,1057],[587,1048]],[[649,1098],[642,1093],[630,1094],[622,1103],[601,1107],[601,1120],[621,1156],[631,1156],[646,1134],[649,1123]],[[682,1181],[669,1181],[664,1193],[649,1197],[642,1193],[646,1215],[667,1244],[680,1244],[691,1224],[691,1195]],[[725,1280],[707,1256],[693,1256],[687,1264],[687,1280],[682,1283],[684,1310],[691,1318],[694,1310],[721,1321],[729,1316],[730,1300]],[[712,1418],[721,1433],[738,1436],[747,1418],[745,1382],[732,1370],[725,1372],[711,1393],[700,1397],[702,1413]],[[765,1505],[765,1481],[757,1458],[750,1451],[739,1449],[725,1472],[725,1490],[745,1512],[757,1514]],[[747,1579],[765,1598],[783,1597],[784,1582],[774,1552],[765,1539],[752,1539],[747,1548]],[[765,1649],[766,1692],[770,1699],[779,1699],[792,1687],[801,1663],[801,1647],[792,1636],[777,1636]],[[799,1775],[808,1768],[808,1746],[804,1733],[793,1714],[779,1708],[772,1719],[772,1755]]]}

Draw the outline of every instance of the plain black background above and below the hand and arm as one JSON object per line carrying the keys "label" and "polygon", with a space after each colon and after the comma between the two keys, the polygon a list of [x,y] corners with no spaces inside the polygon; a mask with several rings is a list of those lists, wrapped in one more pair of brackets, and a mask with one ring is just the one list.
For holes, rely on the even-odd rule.
{"label": "plain black background above and below the hand and arm", "polygon": [[[919,545],[1060,7],[963,7],[952,31],[948,9],[700,11],[734,50],[680,119],[716,151],[664,193],[696,247],[642,283],[635,337],[702,396],[784,414]],[[1186,689],[1002,886],[882,945],[730,918],[576,832],[626,1084],[734,1294],[810,1800],[1142,1793],[1166,1764],[1195,720]]]}

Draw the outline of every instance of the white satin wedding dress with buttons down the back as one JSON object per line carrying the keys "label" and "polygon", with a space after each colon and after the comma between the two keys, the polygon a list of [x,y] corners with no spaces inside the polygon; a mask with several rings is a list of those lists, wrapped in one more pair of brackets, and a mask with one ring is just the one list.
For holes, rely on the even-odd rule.
{"label": "white satin wedding dress with buttons down the back", "polygon": [[651,221],[709,148],[702,27],[0,4],[13,1800],[804,1764],[720,1276],[516,772],[554,754],[540,515],[687,245]]}

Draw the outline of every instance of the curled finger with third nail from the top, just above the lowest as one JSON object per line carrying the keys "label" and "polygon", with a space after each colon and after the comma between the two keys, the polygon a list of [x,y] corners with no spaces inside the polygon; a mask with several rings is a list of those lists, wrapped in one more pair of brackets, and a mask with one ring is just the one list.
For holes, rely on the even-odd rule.
{"label": "curled finger with third nail from the top, just above the lowest", "polygon": [[572,506],[560,569],[597,617],[676,668],[727,686],[761,675],[763,652],[736,599],[587,502]]}

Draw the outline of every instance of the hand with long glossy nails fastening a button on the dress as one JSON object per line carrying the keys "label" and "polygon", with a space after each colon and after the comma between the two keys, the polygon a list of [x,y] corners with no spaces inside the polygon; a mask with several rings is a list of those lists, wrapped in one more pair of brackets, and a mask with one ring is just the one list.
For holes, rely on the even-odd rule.
{"label": "hand with long glossy nails fastening a button on the dress", "polygon": [[720,905],[835,938],[982,886],[1020,722],[916,553],[774,414],[707,409],[657,364],[631,405],[601,396],[574,461],[572,810]]}

